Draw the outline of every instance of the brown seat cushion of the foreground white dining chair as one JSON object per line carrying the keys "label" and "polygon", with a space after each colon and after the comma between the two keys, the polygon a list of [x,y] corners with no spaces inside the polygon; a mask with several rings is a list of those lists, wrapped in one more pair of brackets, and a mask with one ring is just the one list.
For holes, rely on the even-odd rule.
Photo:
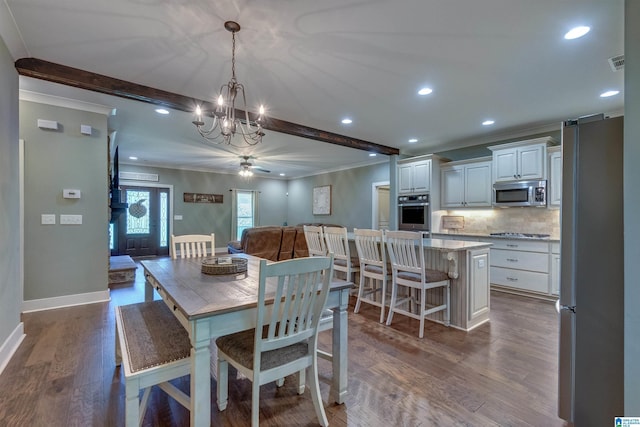
{"label": "brown seat cushion of the foreground white dining chair", "polygon": [[[267,328],[264,329],[266,335]],[[255,345],[255,330],[242,331],[220,337],[216,340],[218,349],[242,366],[253,369],[253,350]],[[267,370],[292,362],[305,356],[309,352],[307,342],[296,343],[281,349],[267,351],[260,360],[261,369]]]}

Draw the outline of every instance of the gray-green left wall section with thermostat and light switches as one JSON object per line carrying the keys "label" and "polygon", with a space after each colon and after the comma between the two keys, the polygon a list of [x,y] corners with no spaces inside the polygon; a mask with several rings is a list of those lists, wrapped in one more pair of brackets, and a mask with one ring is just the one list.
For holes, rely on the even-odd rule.
{"label": "gray-green left wall section with thermostat and light switches", "polygon": [[[55,120],[58,131],[37,127]],[[80,124],[93,134],[80,134]],[[24,299],[34,300],[108,288],[107,117],[20,101],[25,141]],[[64,199],[65,188],[82,191]],[[55,214],[55,225],[41,225]],[[82,215],[82,225],[61,225],[60,214]]]}

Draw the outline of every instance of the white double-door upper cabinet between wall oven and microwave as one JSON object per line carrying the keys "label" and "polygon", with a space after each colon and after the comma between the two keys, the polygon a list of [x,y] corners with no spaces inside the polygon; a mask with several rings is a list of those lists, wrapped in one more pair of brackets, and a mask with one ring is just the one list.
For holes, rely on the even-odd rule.
{"label": "white double-door upper cabinet between wall oven and microwave", "polygon": [[440,169],[441,207],[477,208],[491,206],[491,161],[450,162]]}

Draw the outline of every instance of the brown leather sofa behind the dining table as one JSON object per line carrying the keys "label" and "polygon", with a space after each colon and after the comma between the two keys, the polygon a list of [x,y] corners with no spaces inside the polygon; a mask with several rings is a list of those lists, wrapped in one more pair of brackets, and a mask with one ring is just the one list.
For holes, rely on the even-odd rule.
{"label": "brown leather sofa behind the dining table", "polygon": [[298,224],[296,226],[265,225],[246,228],[242,231],[240,240],[233,240],[227,244],[230,254],[245,253],[271,261],[282,261],[291,258],[309,256],[307,240],[304,238],[303,225],[333,224]]}

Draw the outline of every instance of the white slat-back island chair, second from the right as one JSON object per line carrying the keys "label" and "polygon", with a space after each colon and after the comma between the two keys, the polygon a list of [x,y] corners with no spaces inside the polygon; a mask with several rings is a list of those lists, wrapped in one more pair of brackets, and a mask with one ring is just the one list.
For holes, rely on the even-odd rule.
{"label": "white slat-back island chair, second from the right", "polygon": [[[380,323],[382,323],[384,322],[385,314],[387,282],[391,279],[391,269],[388,268],[387,255],[384,248],[383,232],[381,230],[355,228],[353,234],[360,262],[360,284],[354,313],[360,311],[360,305],[363,302],[380,307]],[[365,287],[367,279],[369,286]],[[378,286],[378,283],[380,286]]]}

